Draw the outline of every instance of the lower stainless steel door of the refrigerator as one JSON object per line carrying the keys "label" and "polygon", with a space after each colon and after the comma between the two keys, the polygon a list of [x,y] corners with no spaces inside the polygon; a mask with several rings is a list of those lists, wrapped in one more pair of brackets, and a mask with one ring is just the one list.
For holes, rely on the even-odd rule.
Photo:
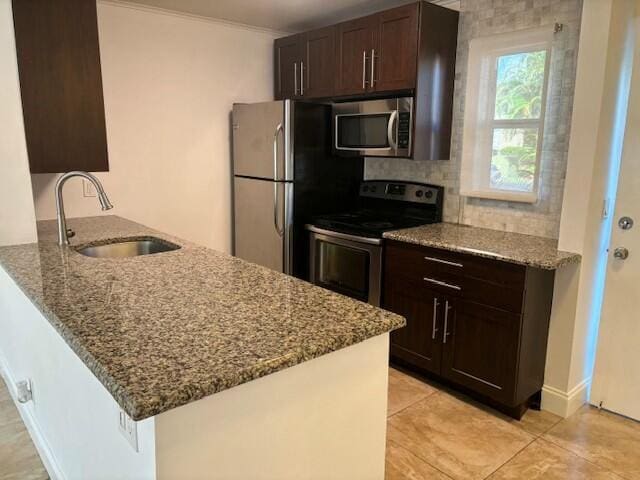
{"label": "lower stainless steel door of the refrigerator", "polygon": [[[289,273],[293,185],[253,178],[234,179],[237,257]],[[277,197],[276,197],[277,192]]]}

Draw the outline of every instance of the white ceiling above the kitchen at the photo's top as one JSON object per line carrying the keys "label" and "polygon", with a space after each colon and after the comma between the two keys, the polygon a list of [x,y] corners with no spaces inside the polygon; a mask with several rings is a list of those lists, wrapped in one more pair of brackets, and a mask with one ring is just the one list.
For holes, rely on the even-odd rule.
{"label": "white ceiling above the kitchen at the photo's top", "polygon": [[[410,0],[127,0],[151,7],[218,18],[282,32],[331,25]],[[434,0],[449,8],[459,0]]]}

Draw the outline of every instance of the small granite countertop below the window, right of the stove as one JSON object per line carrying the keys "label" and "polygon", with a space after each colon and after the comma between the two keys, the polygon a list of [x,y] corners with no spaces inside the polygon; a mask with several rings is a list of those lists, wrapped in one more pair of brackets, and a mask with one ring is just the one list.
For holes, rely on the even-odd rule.
{"label": "small granite countertop below the window, right of the stove", "polygon": [[577,253],[558,250],[558,242],[551,238],[454,223],[434,223],[394,230],[386,232],[384,238],[545,270],[555,270],[581,260]]}

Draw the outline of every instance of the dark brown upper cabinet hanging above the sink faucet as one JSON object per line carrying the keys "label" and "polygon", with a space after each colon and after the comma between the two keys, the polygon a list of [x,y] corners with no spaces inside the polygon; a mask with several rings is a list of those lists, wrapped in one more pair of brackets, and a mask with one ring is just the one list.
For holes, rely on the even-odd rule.
{"label": "dark brown upper cabinet hanging above the sink faucet", "polygon": [[13,0],[31,173],[108,171],[95,0]]}

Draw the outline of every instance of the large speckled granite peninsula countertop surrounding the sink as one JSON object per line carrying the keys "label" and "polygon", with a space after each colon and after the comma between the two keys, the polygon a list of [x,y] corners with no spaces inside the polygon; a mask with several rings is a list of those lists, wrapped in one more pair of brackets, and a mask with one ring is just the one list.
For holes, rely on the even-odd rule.
{"label": "large speckled granite peninsula countertop surrounding the sink", "polygon": [[134,420],[405,325],[393,313],[115,216],[68,219],[72,244],[155,236],[179,250],[98,259],[0,247],[0,265]]}

